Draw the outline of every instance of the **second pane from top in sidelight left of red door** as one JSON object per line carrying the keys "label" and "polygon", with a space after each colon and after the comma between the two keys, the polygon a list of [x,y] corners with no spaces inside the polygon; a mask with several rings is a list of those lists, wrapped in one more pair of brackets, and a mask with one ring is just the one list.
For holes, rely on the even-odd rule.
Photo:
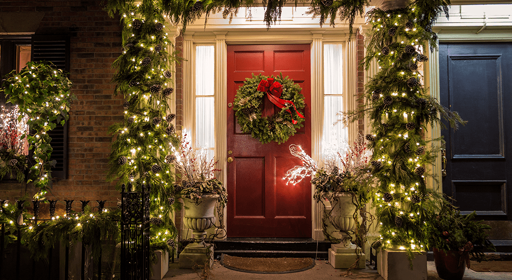
{"label": "second pane from top in sidelight left of red door", "polygon": [[196,147],[214,148],[214,98],[196,98]]}

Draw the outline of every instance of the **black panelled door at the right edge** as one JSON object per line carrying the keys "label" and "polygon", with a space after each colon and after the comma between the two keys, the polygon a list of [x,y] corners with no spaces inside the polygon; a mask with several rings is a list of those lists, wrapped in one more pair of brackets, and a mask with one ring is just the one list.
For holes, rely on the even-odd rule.
{"label": "black panelled door at the right edge", "polygon": [[441,104],[467,121],[442,131],[443,192],[461,212],[510,224],[512,43],[441,43],[439,60]]}

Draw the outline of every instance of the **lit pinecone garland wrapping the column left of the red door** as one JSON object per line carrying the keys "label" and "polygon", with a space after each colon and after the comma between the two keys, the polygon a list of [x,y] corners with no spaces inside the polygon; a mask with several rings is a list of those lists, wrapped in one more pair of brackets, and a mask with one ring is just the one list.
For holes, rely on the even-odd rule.
{"label": "lit pinecone garland wrapping the column left of the red door", "polygon": [[[117,73],[113,81],[116,92],[124,94],[123,122],[111,127],[115,134],[110,156],[110,180],[117,186],[132,183],[140,191],[142,184],[151,185],[152,247],[174,247],[176,228],[169,215],[174,204],[174,171],[172,147],[179,138],[167,103],[173,93],[169,54],[172,46],[165,33],[162,11],[153,1],[124,3],[121,14],[123,50],[114,62]],[[115,10],[111,10],[114,12]]]}

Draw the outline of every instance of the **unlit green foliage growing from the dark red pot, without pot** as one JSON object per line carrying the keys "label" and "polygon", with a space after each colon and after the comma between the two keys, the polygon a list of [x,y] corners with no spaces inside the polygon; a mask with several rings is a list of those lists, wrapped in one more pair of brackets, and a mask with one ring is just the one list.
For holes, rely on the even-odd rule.
{"label": "unlit green foliage growing from the dark red pot, without pot", "polygon": [[496,250],[488,240],[490,226],[476,220],[476,213],[461,215],[460,211],[443,200],[441,210],[430,219],[429,245],[439,250],[456,251],[470,268],[470,255],[478,262],[484,259],[484,250]]}

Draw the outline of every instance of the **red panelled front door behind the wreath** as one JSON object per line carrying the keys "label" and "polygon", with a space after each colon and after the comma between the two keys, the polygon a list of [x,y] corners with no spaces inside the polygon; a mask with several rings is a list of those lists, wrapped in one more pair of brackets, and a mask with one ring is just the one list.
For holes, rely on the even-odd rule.
{"label": "red panelled front door behind the wreath", "polygon": [[[286,185],[286,171],[301,162],[289,145],[311,154],[311,95],[309,44],[228,45],[227,100],[234,101],[245,78],[280,73],[302,87],[306,108],[304,127],[286,143],[261,144],[240,130],[232,107],[227,109],[227,236],[311,238],[311,183]],[[264,102],[264,112],[280,109]]]}

